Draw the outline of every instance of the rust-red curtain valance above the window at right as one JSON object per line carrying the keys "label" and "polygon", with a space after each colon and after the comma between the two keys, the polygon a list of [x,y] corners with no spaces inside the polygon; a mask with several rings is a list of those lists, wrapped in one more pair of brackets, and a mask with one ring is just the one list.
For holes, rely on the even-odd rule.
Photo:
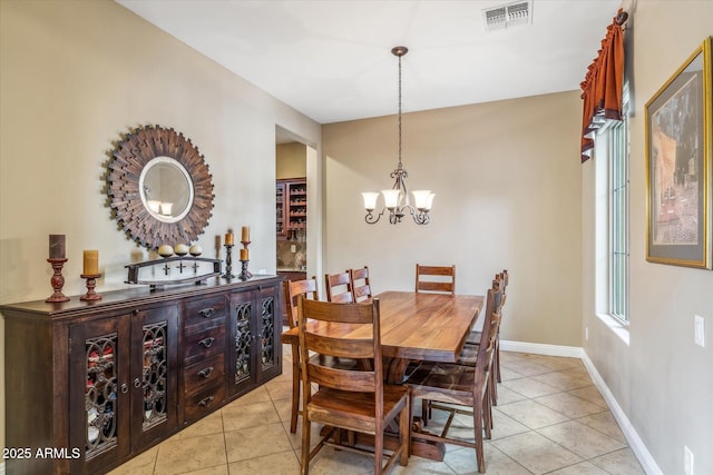
{"label": "rust-red curtain valance above the window at right", "polygon": [[582,118],[582,162],[592,157],[594,131],[607,119],[622,120],[622,85],[624,83],[624,34],[622,24],[627,13],[619,9],[606,38],[602,40],[598,57],[589,65],[582,82],[584,100]]}

